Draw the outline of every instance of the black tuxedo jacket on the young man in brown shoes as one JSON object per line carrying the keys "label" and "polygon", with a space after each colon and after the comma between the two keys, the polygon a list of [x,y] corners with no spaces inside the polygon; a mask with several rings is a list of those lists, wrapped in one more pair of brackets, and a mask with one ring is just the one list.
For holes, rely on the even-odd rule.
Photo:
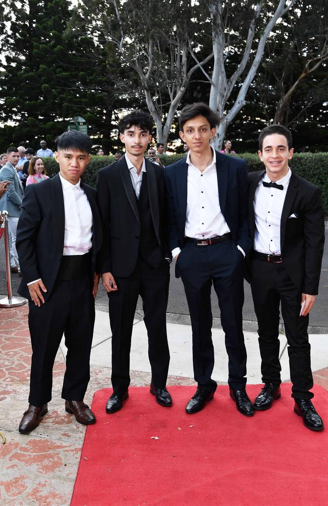
{"label": "black tuxedo jacket on the young man in brown shoes", "polygon": [[[96,270],[96,254],[101,245],[101,225],[94,188],[81,182],[92,211],[91,279]],[[41,278],[51,293],[63,258],[65,209],[59,175],[41,183],[28,185],[17,225],[16,248],[23,273],[18,293],[30,300],[27,283]]]}

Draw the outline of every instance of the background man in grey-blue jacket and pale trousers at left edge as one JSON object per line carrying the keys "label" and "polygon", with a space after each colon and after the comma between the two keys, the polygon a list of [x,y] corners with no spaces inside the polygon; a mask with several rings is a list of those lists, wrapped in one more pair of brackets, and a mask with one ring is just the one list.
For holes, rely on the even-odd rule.
{"label": "background man in grey-blue jacket and pale trousers at left edge", "polygon": [[8,161],[0,170],[0,181],[7,181],[8,191],[0,199],[0,209],[8,211],[8,231],[10,249],[10,267],[14,273],[19,273],[20,268],[16,251],[16,229],[21,212],[24,190],[16,171],[16,165],[20,158],[18,149],[11,146],[7,149]]}

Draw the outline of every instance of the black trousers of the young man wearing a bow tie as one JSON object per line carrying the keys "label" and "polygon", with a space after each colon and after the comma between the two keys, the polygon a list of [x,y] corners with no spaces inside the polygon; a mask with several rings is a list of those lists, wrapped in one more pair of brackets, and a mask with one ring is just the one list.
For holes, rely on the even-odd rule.
{"label": "black trousers of the young man wearing a bow tie", "polygon": [[263,383],[281,383],[279,361],[279,306],[285,324],[292,397],[311,399],[313,377],[307,333],[309,316],[300,316],[301,293],[287,274],[284,264],[253,259],[251,289],[258,322]]}

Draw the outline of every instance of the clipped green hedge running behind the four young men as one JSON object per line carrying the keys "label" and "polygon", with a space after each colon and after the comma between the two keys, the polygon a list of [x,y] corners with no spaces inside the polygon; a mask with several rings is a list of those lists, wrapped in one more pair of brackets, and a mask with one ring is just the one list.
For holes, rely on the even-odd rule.
{"label": "clipped green hedge running behind the four young men", "polygon": [[[185,154],[163,154],[160,155],[159,158],[163,165],[169,165],[170,163],[180,160],[180,158],[184,156]],[[241,153],[232,156],[246,160],[248,172],[260,171],[264,167],[257,154]],[[97,183],[97,171],[99,168],[113,161],[115,161],[113,155],[92,156],[87,170],[83,175],[83,180],[95,188]],[[48,176],[52,177],[57,174],[58,163],[54,158],[44,158],[44,164]],[[311,183],[321,188],[324,214],[328,216],[328,153],[296,153],[292,160],[290,160],[290,166],[295,174],[311,181]]]}

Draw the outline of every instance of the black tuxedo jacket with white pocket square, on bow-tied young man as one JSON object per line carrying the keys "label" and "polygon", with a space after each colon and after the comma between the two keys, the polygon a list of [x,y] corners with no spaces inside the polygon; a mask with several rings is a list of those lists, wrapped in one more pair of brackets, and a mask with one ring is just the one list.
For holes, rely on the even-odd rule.
{"label": "black tuxedo jacket with white pocket square, on bow-tied young man", "polygon": [[[249,221],[254,244],[254,195],[265,171],[251,172],[249,180]],[[291,218],[295,215],[296,218]],[[284,267],[301,293],[318,293],[324,245],[324,214],[320,188],[292,173],[280,224]],[[251,273],[250,273],[251,275]]]}

